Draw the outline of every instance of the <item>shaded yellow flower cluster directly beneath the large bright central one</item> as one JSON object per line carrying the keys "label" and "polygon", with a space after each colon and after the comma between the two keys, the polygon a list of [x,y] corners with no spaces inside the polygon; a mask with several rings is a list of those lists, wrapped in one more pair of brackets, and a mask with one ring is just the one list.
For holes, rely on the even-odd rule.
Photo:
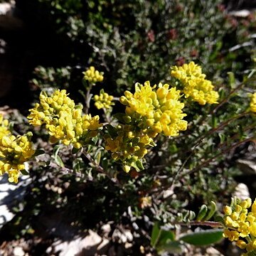
{"label": "shaded yellow flower cluster directly beneath the large bright central one", "polygon": [[121,160],[123,169],[129,172],[131,167],[147,153],[146,146],[154,146],[154,141],[142,130],[136,132],[134,127],[129,124],[119,124],[117,136],[112,138],[105,136],[105,149],[112,152],[114,160]]}

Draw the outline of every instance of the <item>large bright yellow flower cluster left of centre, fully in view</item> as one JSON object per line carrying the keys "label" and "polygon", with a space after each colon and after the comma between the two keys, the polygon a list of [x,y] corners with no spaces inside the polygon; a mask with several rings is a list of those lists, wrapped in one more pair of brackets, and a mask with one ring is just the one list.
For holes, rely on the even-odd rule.
{"label": "large bright yellow flower cluster left of centre, fully in view", "polygon": [[28,122],[34,126],[46,124],[52,143],[60,140],[65,145],[73,144],[80,149],[85,139],[95,137],[97,129],[102,127],[99,116],[82,116],[82,105],[75,105],[66,90],[56,90],[50,97],[41,92],[39,99],[40,103],[29,110]]}

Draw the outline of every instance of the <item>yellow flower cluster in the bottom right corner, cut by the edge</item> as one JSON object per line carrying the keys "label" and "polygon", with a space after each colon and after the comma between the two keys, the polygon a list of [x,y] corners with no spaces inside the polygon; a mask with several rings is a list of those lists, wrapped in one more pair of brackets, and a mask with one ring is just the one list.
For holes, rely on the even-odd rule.
{"label": "yellow flower cluster in the bottom right corner, cut by the edge", "polygon": [[234,198],[231,205],[225,206],[223,211],[224,238],[235,241],[238,247],[246,249],[247,252],[256,252],[256,200],[252,203],[250,198],[244,201]]}

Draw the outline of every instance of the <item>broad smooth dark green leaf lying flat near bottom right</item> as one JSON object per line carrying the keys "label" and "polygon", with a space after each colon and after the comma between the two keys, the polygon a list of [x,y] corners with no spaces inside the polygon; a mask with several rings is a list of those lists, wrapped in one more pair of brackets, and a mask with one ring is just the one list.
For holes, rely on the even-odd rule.
{"label": "broad smooth dark green leaf lying flat near bottom right", "polygon": [[199,232],[183,235],[179,240],[187,242],[191,245],[211,245],[219,242],[223,238],[223,228],[201,230]]}

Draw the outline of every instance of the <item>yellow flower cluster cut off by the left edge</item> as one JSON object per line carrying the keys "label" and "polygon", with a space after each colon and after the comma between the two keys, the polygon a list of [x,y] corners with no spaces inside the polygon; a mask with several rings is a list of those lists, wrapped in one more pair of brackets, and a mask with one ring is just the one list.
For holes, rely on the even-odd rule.
{"label": "yellow flower cluster cut off by the left edge", "polygon": [[35,150],[27,135],[14,136],[8,129],[9,122],[0,114],[0,175],[7,173],[10,182],[18,182],[24,163],[31,159]]}

